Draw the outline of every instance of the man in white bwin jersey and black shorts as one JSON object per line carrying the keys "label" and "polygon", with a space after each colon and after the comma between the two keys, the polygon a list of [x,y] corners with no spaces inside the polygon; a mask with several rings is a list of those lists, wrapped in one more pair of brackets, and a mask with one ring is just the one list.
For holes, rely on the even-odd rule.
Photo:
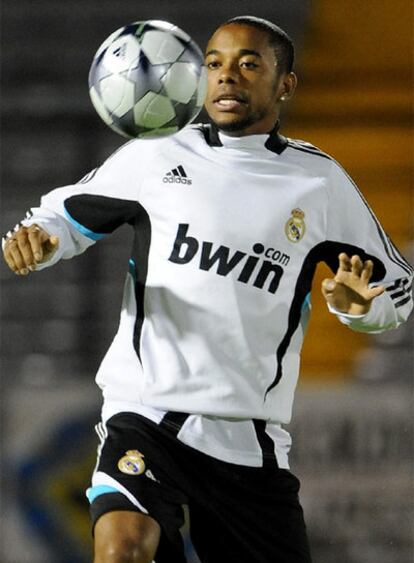
{"label": "man in white bwin jersey and black shorts", "polygon": [[[292,65],[278,27],[226,22],[206,52],[212,125],[126,144],[46,195],[5,241],[24,275],[125,222],[135,230],[119,331],[97,376],[95,563],[184,562],[182,505],[202,562],[309,562],[281,425],[315,267],[332,268],[323,294],[355,330],[395,328],[412,308],[412,270],[356,186],[277,131]],[[177,166],[191,184],[163,182]]]}

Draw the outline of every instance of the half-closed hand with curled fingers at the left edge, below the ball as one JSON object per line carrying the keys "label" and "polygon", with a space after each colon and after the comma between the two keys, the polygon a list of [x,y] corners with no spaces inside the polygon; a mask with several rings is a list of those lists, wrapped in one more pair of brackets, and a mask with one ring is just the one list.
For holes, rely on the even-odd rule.
{"label": "half-closed hand with curled fingers at the left edge, below the ball", "polygon": [[3,239],[3,256],[17,275],[26,276],[37,264],[47,262],[59,246],[59,237],[49,235],[38,225],[18,227]]}

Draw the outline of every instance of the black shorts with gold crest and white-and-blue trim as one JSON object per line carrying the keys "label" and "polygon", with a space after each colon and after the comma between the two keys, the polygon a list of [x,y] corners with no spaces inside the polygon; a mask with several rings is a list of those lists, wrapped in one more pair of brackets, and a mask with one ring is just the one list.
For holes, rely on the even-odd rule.
{"label": "black shorts with gold crest and white-and-blue trim", "polygon": [[299,481],[288,470],[217,460],[180,442],[173,423],[133,413],[113,416],[106,430],[88,495],[93,524],[112,510],[147,513],[162,530],[156,563],[184,563],[187,505],[202,563],[310,563]]}

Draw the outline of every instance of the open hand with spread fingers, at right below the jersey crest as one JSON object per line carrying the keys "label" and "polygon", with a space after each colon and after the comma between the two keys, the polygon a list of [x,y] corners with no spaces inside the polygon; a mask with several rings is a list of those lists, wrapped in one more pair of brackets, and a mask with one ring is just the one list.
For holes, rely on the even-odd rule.
{"label": "open hand with spread fingers, at right below the jersey crest", "polygon": [[368,313],[372,300],[385,291],[382,285],[369,287],[373,267],[371,260],[362,262],[359,256],[350,258],[342,252],[335,277],[322,282],[326,301],[337,311],[348,315]]}

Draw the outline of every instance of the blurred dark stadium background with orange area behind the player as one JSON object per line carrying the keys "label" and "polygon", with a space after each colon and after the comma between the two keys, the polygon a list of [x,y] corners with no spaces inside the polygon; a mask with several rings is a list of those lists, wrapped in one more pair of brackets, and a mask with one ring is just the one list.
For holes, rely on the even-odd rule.
{"label": "blurred dark stadium background with orange area behind the player", "polygon": [[[1,10],[2,232],[124,142],[95,114],[87,88],[92,57],[112,31],[164,19],[204,48],[222,21],[254,14],[297,46],[300,84],[282,132],[339,160],[413,258],[411,0],[3,0]],[[28,278],[0,267],[2,563],[91,561],[93,380],[116,330],[130,242],[122,228]],[[385,335],[352,333],[322,303],[325,275],[321,268],[312,292],[289,427],[314,561],[408,563],[413,320]]]}

